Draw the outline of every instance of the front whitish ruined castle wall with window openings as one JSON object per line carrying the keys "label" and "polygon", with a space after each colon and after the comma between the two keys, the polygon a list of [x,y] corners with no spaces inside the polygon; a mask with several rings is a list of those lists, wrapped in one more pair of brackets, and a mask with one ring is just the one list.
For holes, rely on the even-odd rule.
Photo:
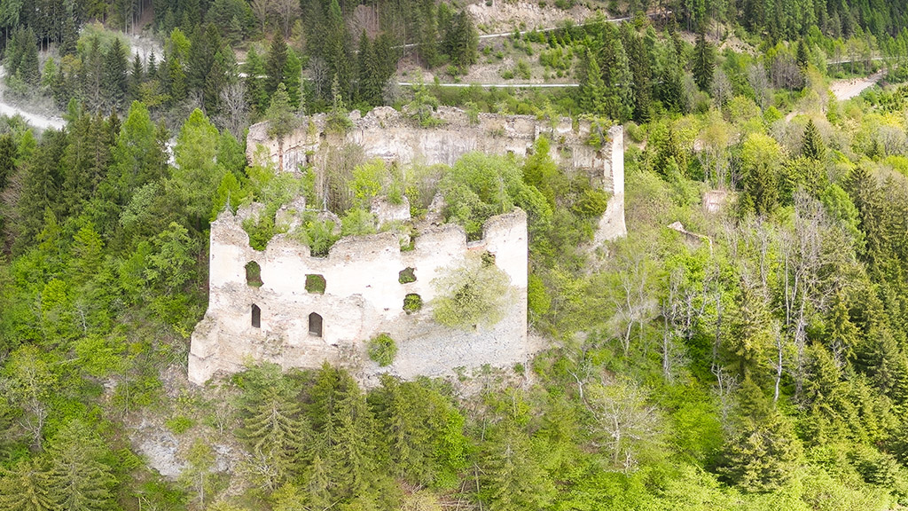
{"label": "front whitish ruined castle wall with window openings", "polygon": [[[467,241],[459,225],[426,226],[412,250],[401,251],[393,233],[348,236],[326,257],[287,235],[264,251],[249,245],[243,211],[223,212],[212,222],[208,311],[192,334],[189,378],[203,383],[218,371],[235,372],[249,360],[283,367],[316,367],[323,361],[352,366],[360,375],[391,372],[401,377],[441,376],[457,366],[508,366],[525,361],[527,343],[527,215],[516,210],[493,216],[484,236]],[[513,303],[498,324],[469,331],[439,326],[431,318],[432,280],[470,253],[488,251],[509,277]],[[261,266],[262,286],[247,284],[245,266]],[[413,268],[415,282],[401,284]],[[307,292],[307,275],[325,279],[324,294]],[[408,314],[404,297],[418,294],[425,306]],[[261,323],[252,326],[252,306]],[[321,336],[310,332],[310,315],[321,316]],[[387,332],[398,355],[379,367],[366,355],[370,337]]]}

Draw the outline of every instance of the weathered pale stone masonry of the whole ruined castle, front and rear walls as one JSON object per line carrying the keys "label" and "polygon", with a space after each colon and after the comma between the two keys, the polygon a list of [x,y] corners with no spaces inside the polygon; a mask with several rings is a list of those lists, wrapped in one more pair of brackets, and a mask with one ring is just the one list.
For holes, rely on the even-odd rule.
{"label": "weathered pale stone masonry of the whole ruined castle, front and rear walls", "polygon": [[[531,116],[480,115],[470,125],[456,109],[439,112],[448,123],[420,129],[400,114],[377,109],[354,120],[347,142],[367,156],[400,163],[453,164],[460,155],[479,150],[527,155],[538,135],[553,140],[552,155],[561,164],[587,171],[611,193],[600,220],[597,242],[625,234],[622,131],[607,132],[604,149],[586,144],[593,126],[568,120],[552,127]],[[317,163],[326,151],[324,118],[313,119],[284,142],[284,165],[295,168],[305,159]],[[265,147],[277,160],[277,143],[264,138],[262,125],[252,126],[248,145]],[[313,161],[314,160],[314,161]],[[373,205],[373,212],[375,206]],[[189,377],[203,383],[219,371],[231,373],[250,360],[282,367],[316,367],[323,361],[350,366],[360,376],[380,372],[412,378],[444,376],[459,366],[510,366],[531,355],[527,336],[527,216],[520,210],[493,216],[483,238],[467,241],[459,225],[419,226],[413,249],[400,250],[394,233],[348,236],[325,257],[307,246],[277,235],[262,252],[252,249],[242,220],[254,215],[223,212],[212,222],[210,298],[205,317],[192,333]],[[495,326],[469,330],[439,326],[432,320],[432,280],[471,253],[488,251],[510,278],[512,303]],[[261,267],[262,286],[247,283],[246,265]],[[400,283],[400,272],[412,268],[415,282]],[[324,278],[323,294],[306,290],[307,276]],[[419,312],[403,310],[405,296],[416,294],[426,304]],[[367,341],[379,333],[395,339],[398,354],[388,367],[366,355]]]}

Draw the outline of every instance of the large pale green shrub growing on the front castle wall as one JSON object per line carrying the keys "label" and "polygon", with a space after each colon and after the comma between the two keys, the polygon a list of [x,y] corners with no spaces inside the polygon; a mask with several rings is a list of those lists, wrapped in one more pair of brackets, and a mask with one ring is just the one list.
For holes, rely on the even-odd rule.
{"label": "large pale green shrub growing on the front castle wall", "polygon": [[435,321],[455,328],[495,325],[510,299],[508,275],[481,255],[469,255],[432,285],[439,292],[432,304]]}

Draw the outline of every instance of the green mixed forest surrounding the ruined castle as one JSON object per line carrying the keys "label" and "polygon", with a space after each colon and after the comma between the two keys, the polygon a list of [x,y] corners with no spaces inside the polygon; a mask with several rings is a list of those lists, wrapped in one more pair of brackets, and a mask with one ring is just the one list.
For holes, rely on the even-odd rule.
{"label": "green mixed forest surrounding the ruined castle", "polygon": [[[565,21],[479,39],[428,0],[0,2],[4,101],[63,119],[0,117],[0,510],[908,506],[905,3],[539,4]],[[484,65],[577,86],[445,86]],[[377,105],[624,125],[627,237],[589,248],[607,195],[546,137],[451,166],[247,161],[253,122],[343,132]],[[186,380],[218,212],[264,204],[261,249],[305,195],[340,220],[302,229],[323,254],[375,232],[371,196],[419,217],[436,190],[472,235],[528,211],[528,364]]]}

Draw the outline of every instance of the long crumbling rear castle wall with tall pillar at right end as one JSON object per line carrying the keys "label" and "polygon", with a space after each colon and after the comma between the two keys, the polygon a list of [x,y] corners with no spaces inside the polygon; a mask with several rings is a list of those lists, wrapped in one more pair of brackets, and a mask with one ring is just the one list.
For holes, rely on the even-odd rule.
{"label": "long crumbling rear castle wall with tall pillar at right end", "polygon": [[[312,115],[306,125],[284,139],[284,170],[319,165],[327,157],[328,147],[341,143],[360,145],[367,157],[386,162],[453,165],[471,151],[526,156],[538,136],[546,135],[551,141],[552,158],[559,165],[587,172],[594,184],[610,195],[606,214],[599,222],[597,243],[627,234],[621,126],[600,130],[587,120],[574,125],[568,117],[552,123],[533,115],[496,114],[479,114],[479,123],[471,124],[466,112],[445,106],[439,107],[436,116],[444,121],[442,125],[423,128],[390,106],[375,108],[363,117],[354,112],[350,117],[353,127],[341,138],[326,130],[326,115]],[[599,148],[588,144],[591,135],[603,140]],[[275,163],[279,159],[278,141],[268,136],[266,123],[250,127],[246,148],[250,161],[258,157],[259,151]]]}

